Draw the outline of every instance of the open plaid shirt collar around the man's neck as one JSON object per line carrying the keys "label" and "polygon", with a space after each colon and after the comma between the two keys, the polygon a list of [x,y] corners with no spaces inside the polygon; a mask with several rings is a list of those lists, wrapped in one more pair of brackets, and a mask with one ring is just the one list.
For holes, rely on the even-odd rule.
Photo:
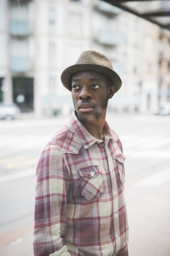
{"label": "open plaid shirt collar around the man's neck", "polygon": [[[98,143],[102,142],[101,139],[96,139],[86,130],[83,124],[81,124],[81,122],[76,117],[75,112],[72,113],[70,123],[72,125],[72,129],[74,130],[78,139],[83,144],[84,148],[89,148],[95,142],[98,142]],[[113,136],[113,132],[111,131],[109,125],[107,124],[107,121],[105,121],[105,124],[103,127],[103,134],[104,136],[109,137],[109,139],[113,139],[113,140],[116,139],[116,137]]]}

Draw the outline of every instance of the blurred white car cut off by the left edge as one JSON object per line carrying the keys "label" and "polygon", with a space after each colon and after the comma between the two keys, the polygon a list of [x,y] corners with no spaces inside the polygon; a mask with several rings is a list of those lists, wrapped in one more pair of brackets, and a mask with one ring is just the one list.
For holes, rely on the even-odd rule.
{"label": "blurred white car cut off by the left edge", "polygon": [[20,115],[20,108],[15,103],[0,103],[0,119],[16,119]]}

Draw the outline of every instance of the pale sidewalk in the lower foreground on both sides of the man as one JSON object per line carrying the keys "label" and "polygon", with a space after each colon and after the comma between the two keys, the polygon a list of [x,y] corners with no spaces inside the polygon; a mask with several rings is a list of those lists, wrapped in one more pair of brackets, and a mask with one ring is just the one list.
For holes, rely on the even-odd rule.
{"label": "pale sidewalk in the lower foreground on both sides of the man", "polygon": [[[126,182],[129,256],[170,256],[170,169]],[[0,236],[0,255],[33,256],[33,222]]]}

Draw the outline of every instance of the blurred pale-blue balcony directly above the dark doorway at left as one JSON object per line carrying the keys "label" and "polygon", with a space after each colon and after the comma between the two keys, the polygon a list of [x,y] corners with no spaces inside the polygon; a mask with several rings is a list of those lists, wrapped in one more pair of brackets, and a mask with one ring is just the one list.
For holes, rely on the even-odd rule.
{"label": "blurred pale-blue balcony directly above the dark doorway at left", "polygon": [[12,72],[29,72],[31,63],[28,57],[12,57],[11,71]]}

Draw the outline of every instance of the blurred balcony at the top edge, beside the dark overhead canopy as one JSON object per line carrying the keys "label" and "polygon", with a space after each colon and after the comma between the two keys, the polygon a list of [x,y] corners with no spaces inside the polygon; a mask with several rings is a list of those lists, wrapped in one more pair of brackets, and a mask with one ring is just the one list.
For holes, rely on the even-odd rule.
{"label": "blurred balcony at the top edge, beside the dark overhead canopy", "polygon": [[103,1],[98,1],[97,5],[96,5],[96,9],[98,11],[103,12],[106,15],[109,15],[109,16],[115,16],[115,15],[118,15],[123,12],[118,7],[115,7],[111,4],[109,4],[107,2],[103,2]]}

